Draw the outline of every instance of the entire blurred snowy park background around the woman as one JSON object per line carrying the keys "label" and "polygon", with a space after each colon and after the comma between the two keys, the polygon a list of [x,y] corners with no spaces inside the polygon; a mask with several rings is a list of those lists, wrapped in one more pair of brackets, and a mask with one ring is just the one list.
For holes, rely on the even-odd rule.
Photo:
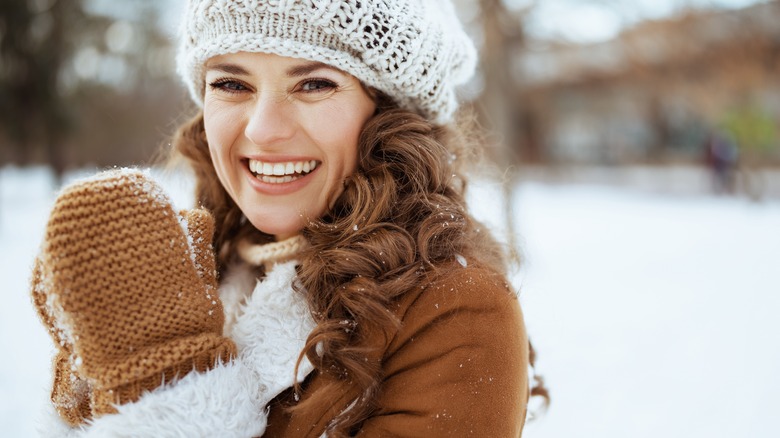
{"label": "entire blurred snowy park background around the woman", "polygon": [[[492,163],[469,198],[552,394],[526,436],[780,436],[780,1],[455,3]],[[194,111],[182,5],[0,3],[0,435],[47,398],[26,289],[57,188],[159,162]]]}

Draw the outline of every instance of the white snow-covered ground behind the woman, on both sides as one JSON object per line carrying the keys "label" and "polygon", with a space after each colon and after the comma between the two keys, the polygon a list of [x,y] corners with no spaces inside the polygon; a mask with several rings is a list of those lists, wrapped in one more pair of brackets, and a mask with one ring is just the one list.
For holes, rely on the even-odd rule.
{"label": "white snow-covered ground behind the woman, on both sides", "polygon": [[[35,436],[47,398],[27,281],[52,186],[0,169],[4,437]],[[471,193],[497,228],[499,193]],[[780,202],[526,181],[515,203],[515,280],[553,398],[525,436],[780,436]]]}

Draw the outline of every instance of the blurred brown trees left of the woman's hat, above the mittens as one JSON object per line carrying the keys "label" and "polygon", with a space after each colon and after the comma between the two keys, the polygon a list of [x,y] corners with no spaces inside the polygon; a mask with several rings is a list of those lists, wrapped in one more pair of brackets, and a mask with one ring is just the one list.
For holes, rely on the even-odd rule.
{"label": "blurred brown trees left of the woman's hat, above the mittens", "polygon": [[148,161],[183,102],[156,3],[3,0],[0,163]]}

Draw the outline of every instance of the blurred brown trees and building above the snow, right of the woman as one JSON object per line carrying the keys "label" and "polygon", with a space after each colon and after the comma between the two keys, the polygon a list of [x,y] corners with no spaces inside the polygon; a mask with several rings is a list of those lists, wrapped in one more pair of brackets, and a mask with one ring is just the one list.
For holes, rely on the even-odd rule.
{"label": "blurred brown trees and building above the snow, right of the woman", "polygon": [[[654,19],[643,15],[651,3],[627,0],[478,3],[477,103],[487,127],[500,133],[495,143],[508,149],[497,148],[500,165],[698,162],[708,133],[746,104],[763,112],[761,126],[753,120],[748,131],[765,140],[740,144],[757,159],[780,162],[778,139],[766,134],[780,125],[780,1],[729,11],[715,1],[680,0],[671,16]],[[559,21],[559,29],[602,25],[619,34],[582,43],[560,29],[540,39],[538,29],[551,25],[538,11],[555,20],[556,7],[582,14]],[[731,131],[745,131],[735,123],[747,124],[732,120]]]}

